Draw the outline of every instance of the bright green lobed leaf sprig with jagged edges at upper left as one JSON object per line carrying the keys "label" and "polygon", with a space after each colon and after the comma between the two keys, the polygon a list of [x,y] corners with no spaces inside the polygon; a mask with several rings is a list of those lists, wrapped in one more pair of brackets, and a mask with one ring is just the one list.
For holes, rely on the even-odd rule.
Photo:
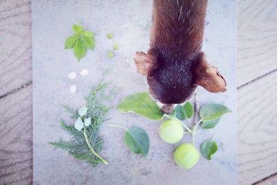
{"label": "bright green lobed leaf sprig with jagged edges at upper left", "polygon": [[89,30],[84,30],[82,26],[76,24],[73,24],[72,30],[75,34],[66,38],[64,47],[65,49],[73,49],[79,62],[87,54],[87,49],[94,49],[94,33]]}

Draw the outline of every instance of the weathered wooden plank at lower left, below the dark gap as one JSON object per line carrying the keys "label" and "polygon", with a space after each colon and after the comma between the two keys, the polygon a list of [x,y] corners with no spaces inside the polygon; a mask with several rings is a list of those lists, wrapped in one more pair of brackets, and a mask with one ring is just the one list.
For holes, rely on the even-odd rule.
{"label": "weathered wooden plank at lower left, below the dark gap", "polygon": [[30,184],[33,167],[32,85],[0,99],[0,184]]}

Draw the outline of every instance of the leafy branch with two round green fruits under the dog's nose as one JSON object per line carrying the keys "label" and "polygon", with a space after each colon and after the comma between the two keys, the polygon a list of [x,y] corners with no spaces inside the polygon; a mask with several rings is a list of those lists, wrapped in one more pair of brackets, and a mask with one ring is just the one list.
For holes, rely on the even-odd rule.
{"label": "leafy branch with two round green fruits under the dog's nose", "polygon": [[[152,120],[168,118],[161,123],[159,128],[161,139],[167,143],[178,143],[184,134],[191,134],[192,143],[184,143],[179,146],[174,155],[175,162],[181,168],[186,169],[195,166],[199,160],[199,152],[195,148],[195,134],[200,129],[215,127],[223,114],[231,112],[228,107],[216,103],[207,103],[199,110],[195,110],[190,102],[186,102],[184,105],[177,105],[172,114],[163,114],[147,92],[131,94],[123,98],[118,104],[118,109],[122,112],[134,112]],[[197,115],[199,115],[198,121],[195,119]],[[190,118],[193,118],[193,120]],[[183,120],[187,124],[183,123]],[[204,141],[201,146],[202,155],[208,160],[211,160],[211,155],[217,151],[217,143],[214,139],[215,136],[211,140]]]}

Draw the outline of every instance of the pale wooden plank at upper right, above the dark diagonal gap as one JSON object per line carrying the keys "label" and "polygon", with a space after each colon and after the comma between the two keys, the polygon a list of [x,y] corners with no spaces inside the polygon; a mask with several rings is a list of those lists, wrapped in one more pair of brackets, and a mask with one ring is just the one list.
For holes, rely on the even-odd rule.
{"label": "pale wooden plank at upper right, above the dark diagonal gap", "polygon": [[277,1],[238,1],[238,86],[277,69]]}

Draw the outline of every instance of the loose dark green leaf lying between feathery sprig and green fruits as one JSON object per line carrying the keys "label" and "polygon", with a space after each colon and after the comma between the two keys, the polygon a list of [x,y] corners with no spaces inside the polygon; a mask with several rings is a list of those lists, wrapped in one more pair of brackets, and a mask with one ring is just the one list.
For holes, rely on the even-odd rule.
{"label": "loose dark green leaf lying between feathery sprig and green fruits", "polygon": [[135,154],[141,153],[144,157],[148,154],[149,136],[140,127],[132,127],[125,132],[125,143]]}

